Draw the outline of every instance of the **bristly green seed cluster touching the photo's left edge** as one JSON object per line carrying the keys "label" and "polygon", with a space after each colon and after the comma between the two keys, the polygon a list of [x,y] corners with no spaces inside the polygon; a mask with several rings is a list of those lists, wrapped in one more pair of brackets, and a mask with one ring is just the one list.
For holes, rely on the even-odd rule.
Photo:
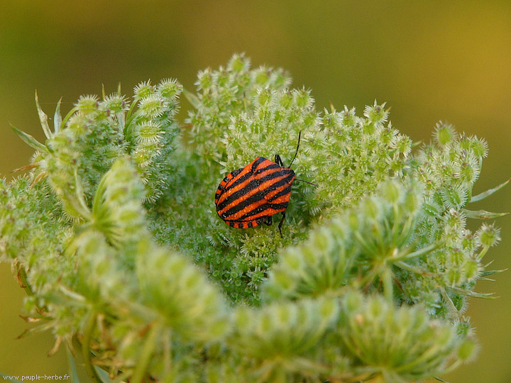
{"label": "bristly green seed cluster touching the photo's left edge", "polygon": [[[31,185],[25,177],[0,179],[0,252],[13,261],[18,281],[32,294],[69,280],[74,259],[62,257],[72,227],[47,184]],[[36,213],[37,212],[37,213]]]}

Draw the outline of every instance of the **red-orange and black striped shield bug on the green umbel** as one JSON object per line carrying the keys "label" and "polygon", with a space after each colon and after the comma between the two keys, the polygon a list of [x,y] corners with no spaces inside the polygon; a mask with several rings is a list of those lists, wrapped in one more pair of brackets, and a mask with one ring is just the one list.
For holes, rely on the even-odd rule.
{"label": "red-orange and black striped shield bug on the green umbel", "polygon": [[[225,223],[233,228],[255,228],[260,223],[270,226],[272,216],[282,213],[278,225],[282,237],[282,223],[285,210],[289,204],[291,185],[294,181],[307,184],[312,182],[295,178],[291,165],[298,154],[298,145],[289,167],[285,167],[280,155],[275,155],[275,162],[265,157],[257,157],[246,167],[234,170],[220,182],[215,194],[216,213]],[[282,237],[283,238],[283,237]]]}

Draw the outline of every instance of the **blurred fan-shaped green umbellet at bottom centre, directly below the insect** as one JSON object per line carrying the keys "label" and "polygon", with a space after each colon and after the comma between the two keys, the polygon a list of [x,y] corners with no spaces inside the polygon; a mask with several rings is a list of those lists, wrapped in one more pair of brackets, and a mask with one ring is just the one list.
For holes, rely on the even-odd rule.
{"label": "blurred fan-shaped green umbellet at bottom centre, directly below the insect", "polygon": [[249,357],[251,381],[302,382],[327,371],[315,360],[317,346],[339,315],[335,299],[303,299],[263,309],[239,307],[233,313],[229,345]]}

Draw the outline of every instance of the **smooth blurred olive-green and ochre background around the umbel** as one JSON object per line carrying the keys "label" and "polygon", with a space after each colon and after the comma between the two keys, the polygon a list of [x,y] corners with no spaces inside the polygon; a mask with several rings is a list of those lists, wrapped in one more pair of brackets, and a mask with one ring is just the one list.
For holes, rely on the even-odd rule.
{"label": "smooth blurred olive-green and ochre background around the umbel", "polygon": [[[253,66],[283,67],[294,87],[312,89],[317,109],[330,102],[387,101],[390,119],[415,140],[434,124],[488,140],[490,155],[475,193],[511,176],[510,1],[41,1],[0,2],[0,174],[26,165],[32,150],[13,123],[43,140],[33,94],[53,116],[81,94],[131,95],[138,82],[176,77],[193,89],[198,70],[246,52]],[[187,109],[186,101],[182,104]],[[185,118],[185,113],[181,113]],[[476,209],[511,211],[511,187]],[[486,255],[510,267],[511,218],[498,220],[502,242]],[[472,228],[476,228],[473,225]],[[510,272],[480,282],[472,299],[478,359],[444,377],[451,383],[511,382]],[[23,291],[0,265],[0,372],[68,373],[65,353],[46,353],[50,333],[17,340]]]}

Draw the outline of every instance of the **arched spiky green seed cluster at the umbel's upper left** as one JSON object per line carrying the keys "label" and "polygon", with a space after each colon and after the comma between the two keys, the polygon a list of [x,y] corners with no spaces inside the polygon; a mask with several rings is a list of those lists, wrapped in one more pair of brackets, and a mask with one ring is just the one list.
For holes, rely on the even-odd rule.
{"label": "arched spiky green seed cluster at the umbel's upper left", "polygon": [[70,216],[84,216],[84,204],[91,201],[99,179],[122,155],[131,155],[137,165],[146,199],[155,201],[166,189],[172,177],[169,156],[175,148],[174,116],[182,87],[163,80],[157,86],[145,84],[144,89],[131,105],[117,93],[101,101],[96,96],[80,98],[60,130],[48,138],[50,152],[44,153],[40,169],[48,174]]}

